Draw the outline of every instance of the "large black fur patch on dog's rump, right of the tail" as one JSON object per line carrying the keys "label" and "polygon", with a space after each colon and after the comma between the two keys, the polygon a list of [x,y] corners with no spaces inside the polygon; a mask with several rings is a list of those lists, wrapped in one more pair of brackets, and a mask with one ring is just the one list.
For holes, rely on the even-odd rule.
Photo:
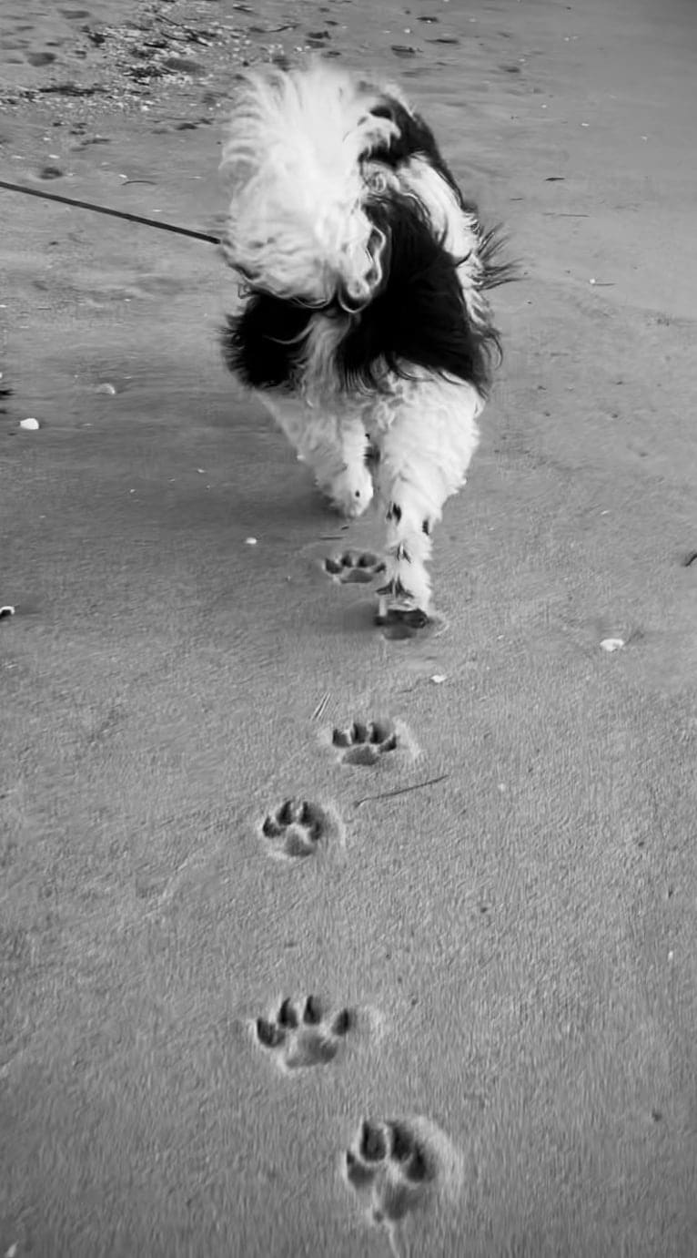
{"label": "large black fur patch on dog's rump, right of the tail", "polygon": [[472,322],[447,252],[418,203],[389,196],[365,206],[384,233],[384,276],[378,294],[357,316],[339,348],[347,384],[379,387],[387,367],[402,377],[422,367],[486,391],[494,328]]}

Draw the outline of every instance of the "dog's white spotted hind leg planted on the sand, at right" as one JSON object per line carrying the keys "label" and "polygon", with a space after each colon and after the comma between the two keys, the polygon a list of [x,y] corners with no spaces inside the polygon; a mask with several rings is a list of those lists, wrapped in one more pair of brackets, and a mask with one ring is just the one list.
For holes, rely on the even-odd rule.
{"label": "dog's white spotted hind leg planted on the sand, at right", "polygon": [[428,616],[433,528],[446,499],[465,483],[481,409],[481,398],[468,385],[422,381],[401,400],[382,437],[387,582],[378,590],[378,620],[392,614],[419,625]]}

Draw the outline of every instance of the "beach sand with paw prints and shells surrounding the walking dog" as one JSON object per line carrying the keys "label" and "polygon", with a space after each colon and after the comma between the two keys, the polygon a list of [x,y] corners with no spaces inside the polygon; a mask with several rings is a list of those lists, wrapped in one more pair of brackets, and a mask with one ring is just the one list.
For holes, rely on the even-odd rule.
{"label": "beach sand with paw prints and shells surrounding the walking dog", "polygon": [[215,248],[0,191],[0,1254],[691,1258],[694,8],[113,9],[3,6],[4,179],[215,231],[240,60],[314,42],[525,278],[393,640]]}

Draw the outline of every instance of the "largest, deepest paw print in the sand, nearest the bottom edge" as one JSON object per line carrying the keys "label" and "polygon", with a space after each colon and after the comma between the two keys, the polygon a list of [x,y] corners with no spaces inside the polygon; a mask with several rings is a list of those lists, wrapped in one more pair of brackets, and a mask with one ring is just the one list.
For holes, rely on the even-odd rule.
{"label": "largest, deepest paw print in the sand, nearest the bottom edge", "polygon": [[373,1222],[391,1227],[422,1204],[437,1162],[407,1121],[364,1118],[344,1155],[344,1172],[357,1194],[370,1194]]}

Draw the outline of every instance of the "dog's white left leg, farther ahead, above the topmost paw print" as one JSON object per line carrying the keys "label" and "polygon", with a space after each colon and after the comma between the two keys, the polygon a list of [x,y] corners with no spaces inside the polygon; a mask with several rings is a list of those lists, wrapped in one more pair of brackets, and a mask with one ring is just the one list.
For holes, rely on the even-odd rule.
{"label": "dog's white left leg, farther ahead, above the topmost paw print", "polygon": [[340,415],[309,406],[281,392],[260,392],[260,400],[283,428],[316,484],[343,516],[360,516],[373,497],[365,465],[368,438],[358,414]]}

